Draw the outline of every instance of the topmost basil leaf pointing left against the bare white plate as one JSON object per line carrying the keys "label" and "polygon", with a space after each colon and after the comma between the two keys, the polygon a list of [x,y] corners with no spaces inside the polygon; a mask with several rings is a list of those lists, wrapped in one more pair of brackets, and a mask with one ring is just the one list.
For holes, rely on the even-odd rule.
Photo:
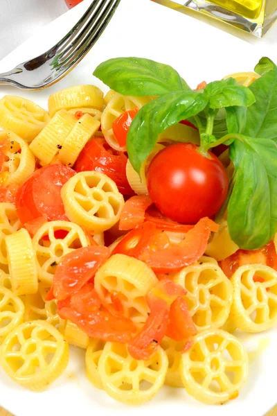
{"label": "topmost basil leaf pointing left against the bare white plate", "polygon": [[93,75],[123,95],[161,96],[180,89],[190,91],[175,69],[143,58],[109,59],[98,65]]}

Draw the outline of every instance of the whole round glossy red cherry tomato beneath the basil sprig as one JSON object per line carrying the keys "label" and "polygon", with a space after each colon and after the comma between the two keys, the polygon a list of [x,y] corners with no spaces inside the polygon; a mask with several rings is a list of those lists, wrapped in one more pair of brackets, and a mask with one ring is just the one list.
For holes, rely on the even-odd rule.
{"label": "whole round glossy red cherry tomato beneath the basil sprig", "polygon": [[222,162],[195,144],[172,144],[159,152],[148,169],[150,198],[162,214],[179,223],[195,224],[222,206],[228,177]]}

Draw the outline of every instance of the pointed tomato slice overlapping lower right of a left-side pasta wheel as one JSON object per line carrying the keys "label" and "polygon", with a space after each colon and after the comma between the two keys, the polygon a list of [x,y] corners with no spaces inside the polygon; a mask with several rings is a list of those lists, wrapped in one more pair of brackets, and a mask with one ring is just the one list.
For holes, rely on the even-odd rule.
{"label": "pointed tomato slice overlapping lower right of a left-side pasta wheel", "polygon": [[102,245],[78,248],[66,254],[58,264],[53,278],[55,298],[64,300],[79,291],[108,258],[109,248]]}

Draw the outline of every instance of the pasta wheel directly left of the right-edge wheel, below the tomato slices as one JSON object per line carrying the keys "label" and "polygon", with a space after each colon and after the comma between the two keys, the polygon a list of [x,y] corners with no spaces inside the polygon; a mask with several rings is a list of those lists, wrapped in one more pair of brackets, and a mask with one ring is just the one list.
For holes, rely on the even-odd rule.
{"label": "pasta wheel directly left of the right-edge wheel, below the tomato slices", "polygon": [[187,291],[188,310],[198,331],[222,327],[229,316],[233,288],[220,266],[202,261],[185,267],[173,279]]}

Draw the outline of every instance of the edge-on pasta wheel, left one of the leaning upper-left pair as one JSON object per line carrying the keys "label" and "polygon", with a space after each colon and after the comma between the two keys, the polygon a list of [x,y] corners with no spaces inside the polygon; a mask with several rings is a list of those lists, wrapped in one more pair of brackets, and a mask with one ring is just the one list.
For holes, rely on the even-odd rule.
{"label": "edge-on pasta wheel, left one of the leaning upper-left pair", "polygon": [[46,165],[52,162],[75,123],[78,123],[77,119],[66,110],[60,110],[53,116],[53,119],[30,144],[30,150],[39,159],[40,164]]}

